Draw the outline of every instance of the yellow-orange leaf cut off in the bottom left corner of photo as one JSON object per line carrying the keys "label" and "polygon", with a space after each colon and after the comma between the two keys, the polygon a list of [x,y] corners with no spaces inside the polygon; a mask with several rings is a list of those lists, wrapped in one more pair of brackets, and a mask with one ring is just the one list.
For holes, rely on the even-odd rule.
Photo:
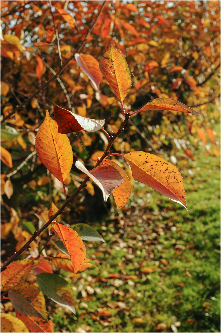
{"label": "yellow-orange leaf cut off in the bottom left corner of photo", "polygon": [[9,313],[1,313],[1,332],[29,332],[29,330],[19,318]]}

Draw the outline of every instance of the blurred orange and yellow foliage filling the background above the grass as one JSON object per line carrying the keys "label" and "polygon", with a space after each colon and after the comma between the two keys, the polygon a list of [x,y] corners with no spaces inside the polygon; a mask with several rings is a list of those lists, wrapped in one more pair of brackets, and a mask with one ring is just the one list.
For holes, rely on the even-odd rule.
{"label": "blurred orange and yellow foliage filling the background above the grass", "polygon": [[[30,237],[22,222],[32,221],[37,226],[34,213],[49,209],[52,201],[59,207],[65,198],[60,184],[35,152],[36,132],[46,110],[53,117],[55,102],[82,116],[106,119],[104,128],[110,135],[122,122],[121,106],[106,80],[103,78],[100,94],[96,94],[75,59],[32,101],[5,119],[75,52],[102,3],[1,1],[3,261]],[[106,1],[81,52],[99,61],[110,43],[123,53],[131,72],[126,111],[139,110],[157,97],[170,97],[201,112],[194,116],[140,112],[131,117],[111,153],[142,150],[157,154],[186,173],[189,184],[199,161],[217,161],[220,157],[220,1]],[[107,145],[101,132],[73,133],[68,137],[74,161],[81,159],[87,168],[93,166],[92,154],[102,152]],[[131,177],[124,161],[118,163]],[[69,193],[82,177],[73,166],[66,180]],[[134,190],[139,196],[136,186]],[[138,201],[131,198],[123,213],[139,205],[139,200],[154,211],[154,203],[141,194]],[[89,183],[60,220],[90,223],[114,209],[111,198],[104,204],[99,189]],[[36,246],[33,242],[30,251]]]}

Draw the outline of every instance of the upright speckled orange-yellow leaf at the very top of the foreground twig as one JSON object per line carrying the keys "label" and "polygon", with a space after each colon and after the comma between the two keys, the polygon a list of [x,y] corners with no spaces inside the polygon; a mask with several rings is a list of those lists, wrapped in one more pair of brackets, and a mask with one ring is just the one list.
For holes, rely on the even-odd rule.
{"label": "upright speckled orange-yellow leaf at the very top of the foreground twig", "polygon": [[130,71],[123,54],[112,45],[100,59],[100,70],[122,103],[131,89]]}

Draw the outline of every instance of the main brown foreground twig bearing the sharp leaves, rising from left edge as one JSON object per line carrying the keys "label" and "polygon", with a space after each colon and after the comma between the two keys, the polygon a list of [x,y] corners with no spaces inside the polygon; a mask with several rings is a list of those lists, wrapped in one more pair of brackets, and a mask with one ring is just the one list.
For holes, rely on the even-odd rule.
{"label": "main brown foreground twig bearing the sharp leaves, rising from left edge", "polygon": [[[121,127],[119,128],[119,130],[117,131],[117,133],[115,134],[114,137],[110,137],[110,142],[104,152],[104,154],[102,155],[102,157],[100,158],[100,160],[98,160],[98,162],[96,163],[96,165],[94,167],[97,167],[101,164],[101,162],[103,161],[103,159],[108,155],[109,153],[109,149],[112,146],[114,140],[119,136],[119,134],[124,130],[124,126],[125,124],[128,122],[128,120],[130,119],[130,114],[126,113],[125,115],[125,119],[123,121],[123,123],[121,124]],[[86,182],[90,179],[90,177],[86,177],[84,179],[84,181],[80,184],[80,186],[74,191],[74,193],[71,194],[71,196],[67,196],[65,202],[62,204],[62,206],[58,209],[58,211],[50,218],[50,220],[48,220],[47,223],[45,223],[41,229],[39,229],[38,231],[35,231],[32,235],[32,237],[27,241],[27,243],[16,253],[14,253],[5,263],[4,265],[2,265],[1,267],[1,272],[3,272],[8,265],[15,260],[22,252],[24,252],[25,250],[27,250],[30,246],[30,244],[33,242],[33,240],[38,237],[38,235],[40,235],[51,223],[52,221],[63,212],[63,209],[67,206],[67,204],[80,192],[80,190],[82,188],[84,188],[86,186]]]}

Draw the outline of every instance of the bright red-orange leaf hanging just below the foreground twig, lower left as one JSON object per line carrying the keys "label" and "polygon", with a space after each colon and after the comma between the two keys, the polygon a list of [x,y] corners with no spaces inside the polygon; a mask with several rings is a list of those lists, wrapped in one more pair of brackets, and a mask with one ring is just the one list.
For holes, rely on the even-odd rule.
{"label": "bright red-orange leaf hanging just below the foreground twig, lower left", "polygon": [[53,226],[67,249],[76,274],[85,261],[86,250],[84,243],[78,233],[66,225],[54,223]]}

